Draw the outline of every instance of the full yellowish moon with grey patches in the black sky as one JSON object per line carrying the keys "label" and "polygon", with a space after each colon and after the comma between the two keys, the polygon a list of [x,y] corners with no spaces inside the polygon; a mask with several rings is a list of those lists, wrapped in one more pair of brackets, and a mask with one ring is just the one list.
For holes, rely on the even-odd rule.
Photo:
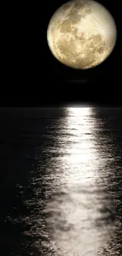
{"label": "full yellowish moon with grey patches in the black sky", "polygon": [[73,69],[91,69],[112,53],[116,45],[116,24],[100,3],[72,0],[51,17],[47,43],[62,64]]}

